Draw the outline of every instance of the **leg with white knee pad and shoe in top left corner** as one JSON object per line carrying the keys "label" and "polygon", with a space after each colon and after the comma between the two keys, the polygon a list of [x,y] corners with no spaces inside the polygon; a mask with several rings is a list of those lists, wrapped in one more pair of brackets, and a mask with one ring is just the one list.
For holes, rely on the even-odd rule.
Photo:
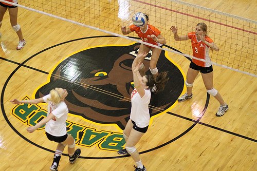
{"label": "leg with white knee pad and shoe in top left corner", "polygon": [[19,36],[19,44],[16,49],[21,50],[25,46],[26,41],[23,39],[21,26],[17,24],[18,8],[9,8],[8,11],[10,15],[10,22],[11,22],[12,28]]}

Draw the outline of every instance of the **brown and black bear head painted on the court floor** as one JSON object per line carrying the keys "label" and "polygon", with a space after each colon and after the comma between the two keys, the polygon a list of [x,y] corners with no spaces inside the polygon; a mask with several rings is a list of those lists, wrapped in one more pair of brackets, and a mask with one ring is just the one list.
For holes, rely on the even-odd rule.
{"label": "brown and black bear head painted on the court floor", "polygon": [[[67,89],[69,113],[101,124],[117,124],[124,129],[131,112],[133,91],[132,62],[140,44],[92,47],[72,54],[53,71],[50,82],[36,91],[35,98],[45,96],[54,87]],[[149,68],[151,51],[144,61]],[[181,71],[162,50],[157,68],[169,71],[166,88],[152,94],[151,117],[170,108],[180,96],[184,80]],[[151,72],[146,71],[146,74]]]}

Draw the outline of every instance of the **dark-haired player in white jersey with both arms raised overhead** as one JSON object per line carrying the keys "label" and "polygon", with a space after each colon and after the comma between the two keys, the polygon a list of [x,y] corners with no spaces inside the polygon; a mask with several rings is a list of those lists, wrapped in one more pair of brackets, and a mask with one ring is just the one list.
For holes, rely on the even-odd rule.
{"label": "dark-haired player in white jersey with both arms raised overhead", "polygon": [[148,105],[151,99],[151,88],[154,84],[158,84],[160,91],[164,89],[167,78],[167,72],[161,72],[158,74],[156,82],[153,75],[143,75],[139,73],[141,61],[144,60],[148,53],[139,53],[132,64],[133,79],[135,89],[131,93],[131,116],[128,120],[126,127],[123,131],[123,137],[126,141],[125,149],[118,151],[119,155],[130,154],[133,160],[136,162],[135,171],[144,171],[146,168],[142,164],[139,153],[135,148],[135,145],[141,139],[143,134],[148,130],[150,113]]}

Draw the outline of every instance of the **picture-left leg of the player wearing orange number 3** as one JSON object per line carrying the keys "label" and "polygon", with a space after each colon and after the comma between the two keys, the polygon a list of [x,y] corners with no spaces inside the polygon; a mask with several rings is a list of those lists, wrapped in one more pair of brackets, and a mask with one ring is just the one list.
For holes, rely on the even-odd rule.
{"label": "picture-left leg of the player wearing orange number 3", "polygon": [[178,98],[178,102],[183,102],[193,97],[193,93],[192,93],[193,83],[198,73],[199,73],[198,70],[194,70],[190,67],[188,68],[187,80],[186,80],[187,92],[183,94],[180,98]]}

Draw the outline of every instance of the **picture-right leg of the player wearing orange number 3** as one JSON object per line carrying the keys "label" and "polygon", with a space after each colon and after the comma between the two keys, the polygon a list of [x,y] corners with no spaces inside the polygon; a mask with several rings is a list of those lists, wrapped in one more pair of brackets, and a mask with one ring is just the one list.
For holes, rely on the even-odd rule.
{"label": "picture-right leg of the player wearing orange number 3", "polygon": [[210,73],[201,73],[201,77],[203,78],[207,92],[213,96],[220,104],[216,116],[223,116],[228,110],[228,105],[223,100],[221,94],[215,88],[213,88],[213,71]]}

